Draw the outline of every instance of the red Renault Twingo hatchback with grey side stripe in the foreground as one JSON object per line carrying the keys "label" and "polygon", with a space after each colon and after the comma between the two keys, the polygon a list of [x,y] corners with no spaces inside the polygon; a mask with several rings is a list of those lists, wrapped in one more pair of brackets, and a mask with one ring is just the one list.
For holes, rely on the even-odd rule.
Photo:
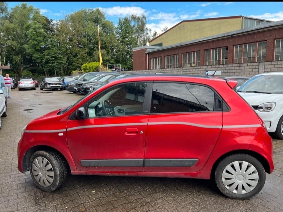
{"label": "red Renault Twingo hatchback with grey side stripe in the foreground", "polygon": [[194,75],[129,75],[25,126],[18,169],[54,191],[72,174],[214,179],[231,198],[271,173],[271,137],[234,90]]}

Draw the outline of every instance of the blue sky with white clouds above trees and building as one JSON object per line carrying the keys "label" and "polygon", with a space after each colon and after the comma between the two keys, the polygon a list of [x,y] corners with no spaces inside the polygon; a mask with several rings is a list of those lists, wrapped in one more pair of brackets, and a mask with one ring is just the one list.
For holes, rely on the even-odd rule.
{"label": "blue sky with white clouds above trees and building", "polygon": [[[22,2],[8,2],[9,8]],[[222,16],[251,16],[283,20],[283,2],[26,2],[54,20],[82,8],[101,8],[116,25],[119,17],[146,14],[152,31],[172,27],[182,20]]]}

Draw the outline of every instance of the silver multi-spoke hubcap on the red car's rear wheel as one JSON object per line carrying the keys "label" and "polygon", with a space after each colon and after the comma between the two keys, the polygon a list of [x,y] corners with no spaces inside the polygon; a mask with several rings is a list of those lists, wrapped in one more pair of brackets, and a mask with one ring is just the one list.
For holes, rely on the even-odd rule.
{"label": "silver multi-spoke hubcap on the red car's rear wheel", "polygon": [[224,168],[224,186],[235,194],[246,194],[258,184],[258,171],[246,161],[235,161]]}

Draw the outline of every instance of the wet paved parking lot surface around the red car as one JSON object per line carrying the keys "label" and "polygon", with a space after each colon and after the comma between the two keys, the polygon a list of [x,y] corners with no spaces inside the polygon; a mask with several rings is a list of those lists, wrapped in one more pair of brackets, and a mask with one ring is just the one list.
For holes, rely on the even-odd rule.
{"label": "wet paved parking lot surface around the red car", "polygon": [[209,180],[69,176],[55,192],[33,185],[17,169],[22,128],[81,98],[67,91],[12,90],[0,130],[0,212],[8,211],[283,211],[283,141],[273,140],[275,171],[256,197],[224,197]]}

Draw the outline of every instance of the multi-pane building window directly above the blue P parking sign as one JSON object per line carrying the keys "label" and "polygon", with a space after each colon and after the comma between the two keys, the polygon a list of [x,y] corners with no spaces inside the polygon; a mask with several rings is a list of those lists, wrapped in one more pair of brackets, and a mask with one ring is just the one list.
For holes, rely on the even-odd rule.
{"label": "multi-pane building window directly above the blue P parking sign", "polygon": [[205,50],[204,65],[227,64],[228,47]]}

